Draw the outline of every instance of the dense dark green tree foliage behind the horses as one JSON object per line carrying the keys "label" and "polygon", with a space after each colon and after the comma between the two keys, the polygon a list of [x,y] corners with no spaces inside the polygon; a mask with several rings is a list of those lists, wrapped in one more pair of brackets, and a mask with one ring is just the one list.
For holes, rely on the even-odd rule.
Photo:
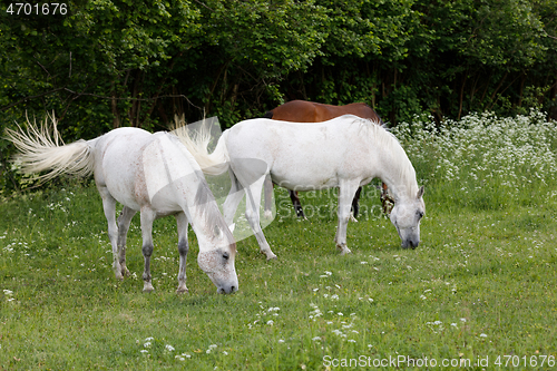
{"label": "dense dark green tree foliage behind the horses", "polygon": [[[291,100],[365,101],[395,126],[530,108],[557,118],[550,0],[72,0],[0,8],[0,130],[55,111],[67,141],[111,128],[223,127]],[[4,187],[17,188],[3,144]]]}

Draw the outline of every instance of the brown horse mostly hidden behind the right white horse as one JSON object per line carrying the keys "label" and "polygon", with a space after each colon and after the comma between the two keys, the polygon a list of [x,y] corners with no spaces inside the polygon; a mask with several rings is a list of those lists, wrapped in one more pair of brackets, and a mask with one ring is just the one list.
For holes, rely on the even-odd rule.
{"label": "brown horse mostly hidden behind the right white horse", "polygon": [[[332,106],[324,105],[307,100],[291,100],[267,111],[263,117],[272,118],[274,120],[281,121],[292,121],[292,123],[321,123],[326,121],[332,118],[342,116],[342,115],[355,115],[361,118],[368,118],[378,123],[379,125],[384,125],[381,120],[381,117],[367,104],[355,102],[345,106]],[[268,204],[271,201],[270,193],[272,192],[271,179],[267,179],[265,183],[265,211],[271,211],[271,205]],[[352,211],[354,213],[354,217],[358,216],[358,211],[360,208],[359,201],[360,194],[362,192],[362,187],[358,188],[358,192],[354,195],[354,199],[352,201]],[[297,196],[297,192],[289,189],[290,198],[292,199],[292,204],[294,205],[294,209],[296,211],[296,215],[299,217],[304,217],[304,211],[302,208],[302,204],[300,203],[300,197]],[[387,206],[387,201],[389,196],[387,194],[387,186],[383,184],[381,191],[381,202],[383,205],[383,212],[388,214],[389,208]]]}

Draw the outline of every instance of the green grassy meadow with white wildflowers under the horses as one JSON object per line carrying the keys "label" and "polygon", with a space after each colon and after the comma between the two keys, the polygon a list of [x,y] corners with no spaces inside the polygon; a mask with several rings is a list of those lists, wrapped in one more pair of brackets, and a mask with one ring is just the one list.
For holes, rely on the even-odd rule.
{"label": "green grassy meadow with white wildflowers under the horses", "polygon": [[141,293],[139,218],[118,282],[100,196],[62,179],[0,205],[0,370],[556,369],[557,125],[544,115],[417,117],[399,137],[426,185],[421,243],[402,250],[378,183],[339,256],[335,192],[275,188],[264,230],[237,243],[240,290],[216,294],[189,233],[177,295],[174,218],[154,226]]}

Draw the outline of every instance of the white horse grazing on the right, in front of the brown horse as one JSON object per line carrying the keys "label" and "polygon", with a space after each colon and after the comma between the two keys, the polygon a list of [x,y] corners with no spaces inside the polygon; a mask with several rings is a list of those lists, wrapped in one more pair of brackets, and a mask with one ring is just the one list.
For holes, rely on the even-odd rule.
{"label": "white horse grazing on the right, in front of the brown horse", "polygon": [[[228,225],[243,197],[238,191],[246,189],[246,218],[267,260],[276,257],[260,227],[261,187],[267,175],[292,191],[340,188],[335,242],[341,254],[350,253],[346,226],[354,194],[379,177],[394,201],[390,218],[402,247],[416,248],[420,243],[423,187],[418,187],[414,168],[397,138],[370,120],[352,115],[312,125],[245,120],[223,133],[213,154],[207,153],[208,138],[203,133],[182,135],[180,140],[206,174],[229,168],[233,186],[224,204]],[[253,159],[266,166],[253,166]]]}

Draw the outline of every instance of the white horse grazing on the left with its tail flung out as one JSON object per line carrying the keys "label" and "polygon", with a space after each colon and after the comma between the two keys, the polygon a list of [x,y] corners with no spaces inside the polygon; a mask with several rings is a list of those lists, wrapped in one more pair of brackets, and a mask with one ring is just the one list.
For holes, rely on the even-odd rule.
{"label": "white horse grazing on the left with its tail flung out", "polygon": [[[27,131],[7,130],[20,150],[17,159],[25,173],[50,169],[43,178],[61,173],[85,176],[94,173],[108,222],[116,279],[129,275],[126,267],[126,235],[131,217],[141,217],[144,292],[154,290],[150,276],[153,222],[174,215],[178,224],[178,293],[187,292],[187,226],[197,235],[199,267],[218,293],[238,289],[234,267],[236,244],[203,173],[184,145],[168,133],[150,134],[138,128],[119,128],[91,140],[63,145],[53,121],[53,140],[46,126],[30,125]],[[124,205],[116,221],[116,202]]]}

